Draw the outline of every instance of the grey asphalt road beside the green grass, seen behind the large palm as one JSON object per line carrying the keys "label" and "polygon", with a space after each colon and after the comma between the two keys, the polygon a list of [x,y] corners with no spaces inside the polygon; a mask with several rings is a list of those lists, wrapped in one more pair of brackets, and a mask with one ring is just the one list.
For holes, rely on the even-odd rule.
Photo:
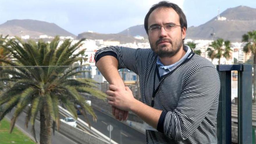
{"label": "grey asphalt road beside the green grass, seen behind the large palm", "polygon": [[[14,110],[12,110],[10,113],[8,113],[5,117],[10,120],[13,116],[13,113],[14,113]],[[29,126],[26,129],[25,118],[26,118],[26,114],[24,112],[22,112],[16,121],[16,126],[21,128],[23,133],[25,133],[26,135],[29,135],[29,137],[34,140],[33,134],[31,132],[31,127],[32,127],[31,123],[29,122]],[[40,141],[40,121],[38,121],[38,120],[35,120],[35,131],[36,131],[36,139],[39,143],[39,141]],[[52,134],[51,143],[52,144],[76,144],[69,138],[60,134],[58,131],[55,131],[55,135]]]}

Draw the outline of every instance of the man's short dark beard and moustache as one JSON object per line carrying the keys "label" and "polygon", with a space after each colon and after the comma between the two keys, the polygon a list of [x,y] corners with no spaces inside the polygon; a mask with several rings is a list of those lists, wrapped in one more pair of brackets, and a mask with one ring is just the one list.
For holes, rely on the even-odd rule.
{"label": "man's short dark beard and moustache", "polygon": [[[168,41],[170,43],[170,46],[166,44],[157,46],[161,41]],[[182,39],[178,39],[175,42],[172,42],[168,38],[160,38],[159,40],[157,40],[155,45],[153,45],[152,42],[150,42],[150,47],[161,58],[172,57],[175,54],[177,54],[178,51],[181,49]]]}

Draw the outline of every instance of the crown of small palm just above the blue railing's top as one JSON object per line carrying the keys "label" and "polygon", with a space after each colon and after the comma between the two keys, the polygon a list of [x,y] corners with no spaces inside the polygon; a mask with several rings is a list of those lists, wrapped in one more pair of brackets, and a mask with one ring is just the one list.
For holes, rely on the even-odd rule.
{"label": "crown of small palm just above the blue railing's top", "polygon": [[217,40],[211,42],[206,51],[208,51],[208,56],[212,61],[214,58],[218,58],[218,64],[220,65],[222,57],[226,58],[227,60],[231,58],[232,49],[230,47],[229,40],[224,42],[222,38],[218,38]]}

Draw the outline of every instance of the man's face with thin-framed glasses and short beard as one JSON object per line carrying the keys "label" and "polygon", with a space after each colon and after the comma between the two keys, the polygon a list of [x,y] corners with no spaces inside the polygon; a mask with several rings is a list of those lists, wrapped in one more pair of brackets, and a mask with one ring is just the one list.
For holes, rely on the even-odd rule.
{"label": "man's face with thin-framed glasses and short beard", "polygon": [[[148,18],[148,28],[151,26],[164,26],[168,24],[179,23],[179,15],[173,8],[157,8]],[[170,31],[166,31],[164,27],[161,30],[148,30],[148,38],[151,49],[158,54],[159,57],[171,57],[177,54],[182,47],[182,39],[186,36],[186,28],[174,26]]]}

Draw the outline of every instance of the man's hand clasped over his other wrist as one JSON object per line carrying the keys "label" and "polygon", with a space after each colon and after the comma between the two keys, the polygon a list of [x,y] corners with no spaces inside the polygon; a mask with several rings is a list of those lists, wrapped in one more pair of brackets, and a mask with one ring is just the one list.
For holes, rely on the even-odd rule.
{"label": "man's hand clasped over his other wrist", "polygon": [[124,111],[129,111],[131,105],[136,100],[128,87],[125,87],[125,90],[123,90],[117,86],[110,85],[106,93],[109,95],[107,97],[109,104]]}

